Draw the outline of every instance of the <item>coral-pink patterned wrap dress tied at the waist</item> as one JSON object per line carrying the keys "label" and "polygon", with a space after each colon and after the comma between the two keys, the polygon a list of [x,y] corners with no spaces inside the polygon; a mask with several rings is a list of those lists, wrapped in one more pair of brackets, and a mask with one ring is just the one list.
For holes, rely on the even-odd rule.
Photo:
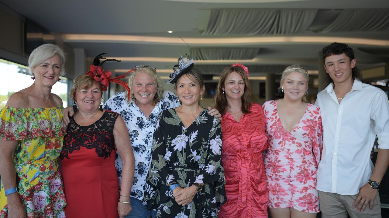
{"label": "coral-pink patterned wrap dress tied at the waist", "polygon": [[228,200],[221,206],[219,217],[267,218],[268,190],[262,152],[268,141],[262,107],[252,104],[250,113],[243,114],[240,122],[225,113],[221,126]]}

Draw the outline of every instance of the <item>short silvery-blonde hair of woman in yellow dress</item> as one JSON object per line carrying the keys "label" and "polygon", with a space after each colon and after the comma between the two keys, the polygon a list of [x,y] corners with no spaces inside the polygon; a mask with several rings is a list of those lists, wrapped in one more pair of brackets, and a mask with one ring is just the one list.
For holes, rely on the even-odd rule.
{"label": "short silvery-blonde hair of woman in yellow dress", "polygon": [[31,52],[30,57],[28,57],[28,70],[30,71],[30,74],[32,74],[32,69],[34,69],[34,67],[38,66],[40,63],[46,61],[54,55],[58,55],[58,57],[60,57],[60,74],[61,76],[65,76],[65,52],[63,52],[62,48],[60,48],[58,45],[51,43],[40,45]]}

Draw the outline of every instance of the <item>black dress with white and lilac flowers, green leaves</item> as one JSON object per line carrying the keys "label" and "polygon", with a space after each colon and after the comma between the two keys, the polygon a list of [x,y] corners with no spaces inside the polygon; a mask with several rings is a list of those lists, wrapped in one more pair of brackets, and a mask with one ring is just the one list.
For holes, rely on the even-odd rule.
{"label": "black dress with white and lilac flowers, green leaves", "polygon": [[[221,161],[221,125],[203,109],[185,128],[174,109],[159,116],[154,132],[152,160],[147,174],[144,203],[157,216],[168,218],[217,217],[217,208],[226,202]],[[182,207],[175,202],[170,185],[185,188],[204,183],[193,201]]]}

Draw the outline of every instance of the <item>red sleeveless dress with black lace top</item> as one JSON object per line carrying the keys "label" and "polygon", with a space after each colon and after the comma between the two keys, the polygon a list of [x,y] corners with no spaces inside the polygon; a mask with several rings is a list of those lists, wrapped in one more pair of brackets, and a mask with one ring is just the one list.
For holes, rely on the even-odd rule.
{"label": "red sleeveless dress with black lace top", "polygon": [[118,217],[119,180],[114,142],[117,116],[105,111],[89,126],[79,126],[70,119],[60,156],[68,217]]}

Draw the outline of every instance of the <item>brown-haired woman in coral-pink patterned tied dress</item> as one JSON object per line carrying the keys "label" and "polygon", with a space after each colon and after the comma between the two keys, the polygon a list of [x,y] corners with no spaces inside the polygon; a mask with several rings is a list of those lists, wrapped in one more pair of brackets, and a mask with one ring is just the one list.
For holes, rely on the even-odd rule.
{"label": "brown-haired woman in coral-pink patterned tied dress", "polygon": [[221,218],[265,218],[268,191],[262,151],[268,145],[261,105],[252,103],[248,69],[234,64],[224,69],[216,91],[223,114],[222,161],[227,202]]}

